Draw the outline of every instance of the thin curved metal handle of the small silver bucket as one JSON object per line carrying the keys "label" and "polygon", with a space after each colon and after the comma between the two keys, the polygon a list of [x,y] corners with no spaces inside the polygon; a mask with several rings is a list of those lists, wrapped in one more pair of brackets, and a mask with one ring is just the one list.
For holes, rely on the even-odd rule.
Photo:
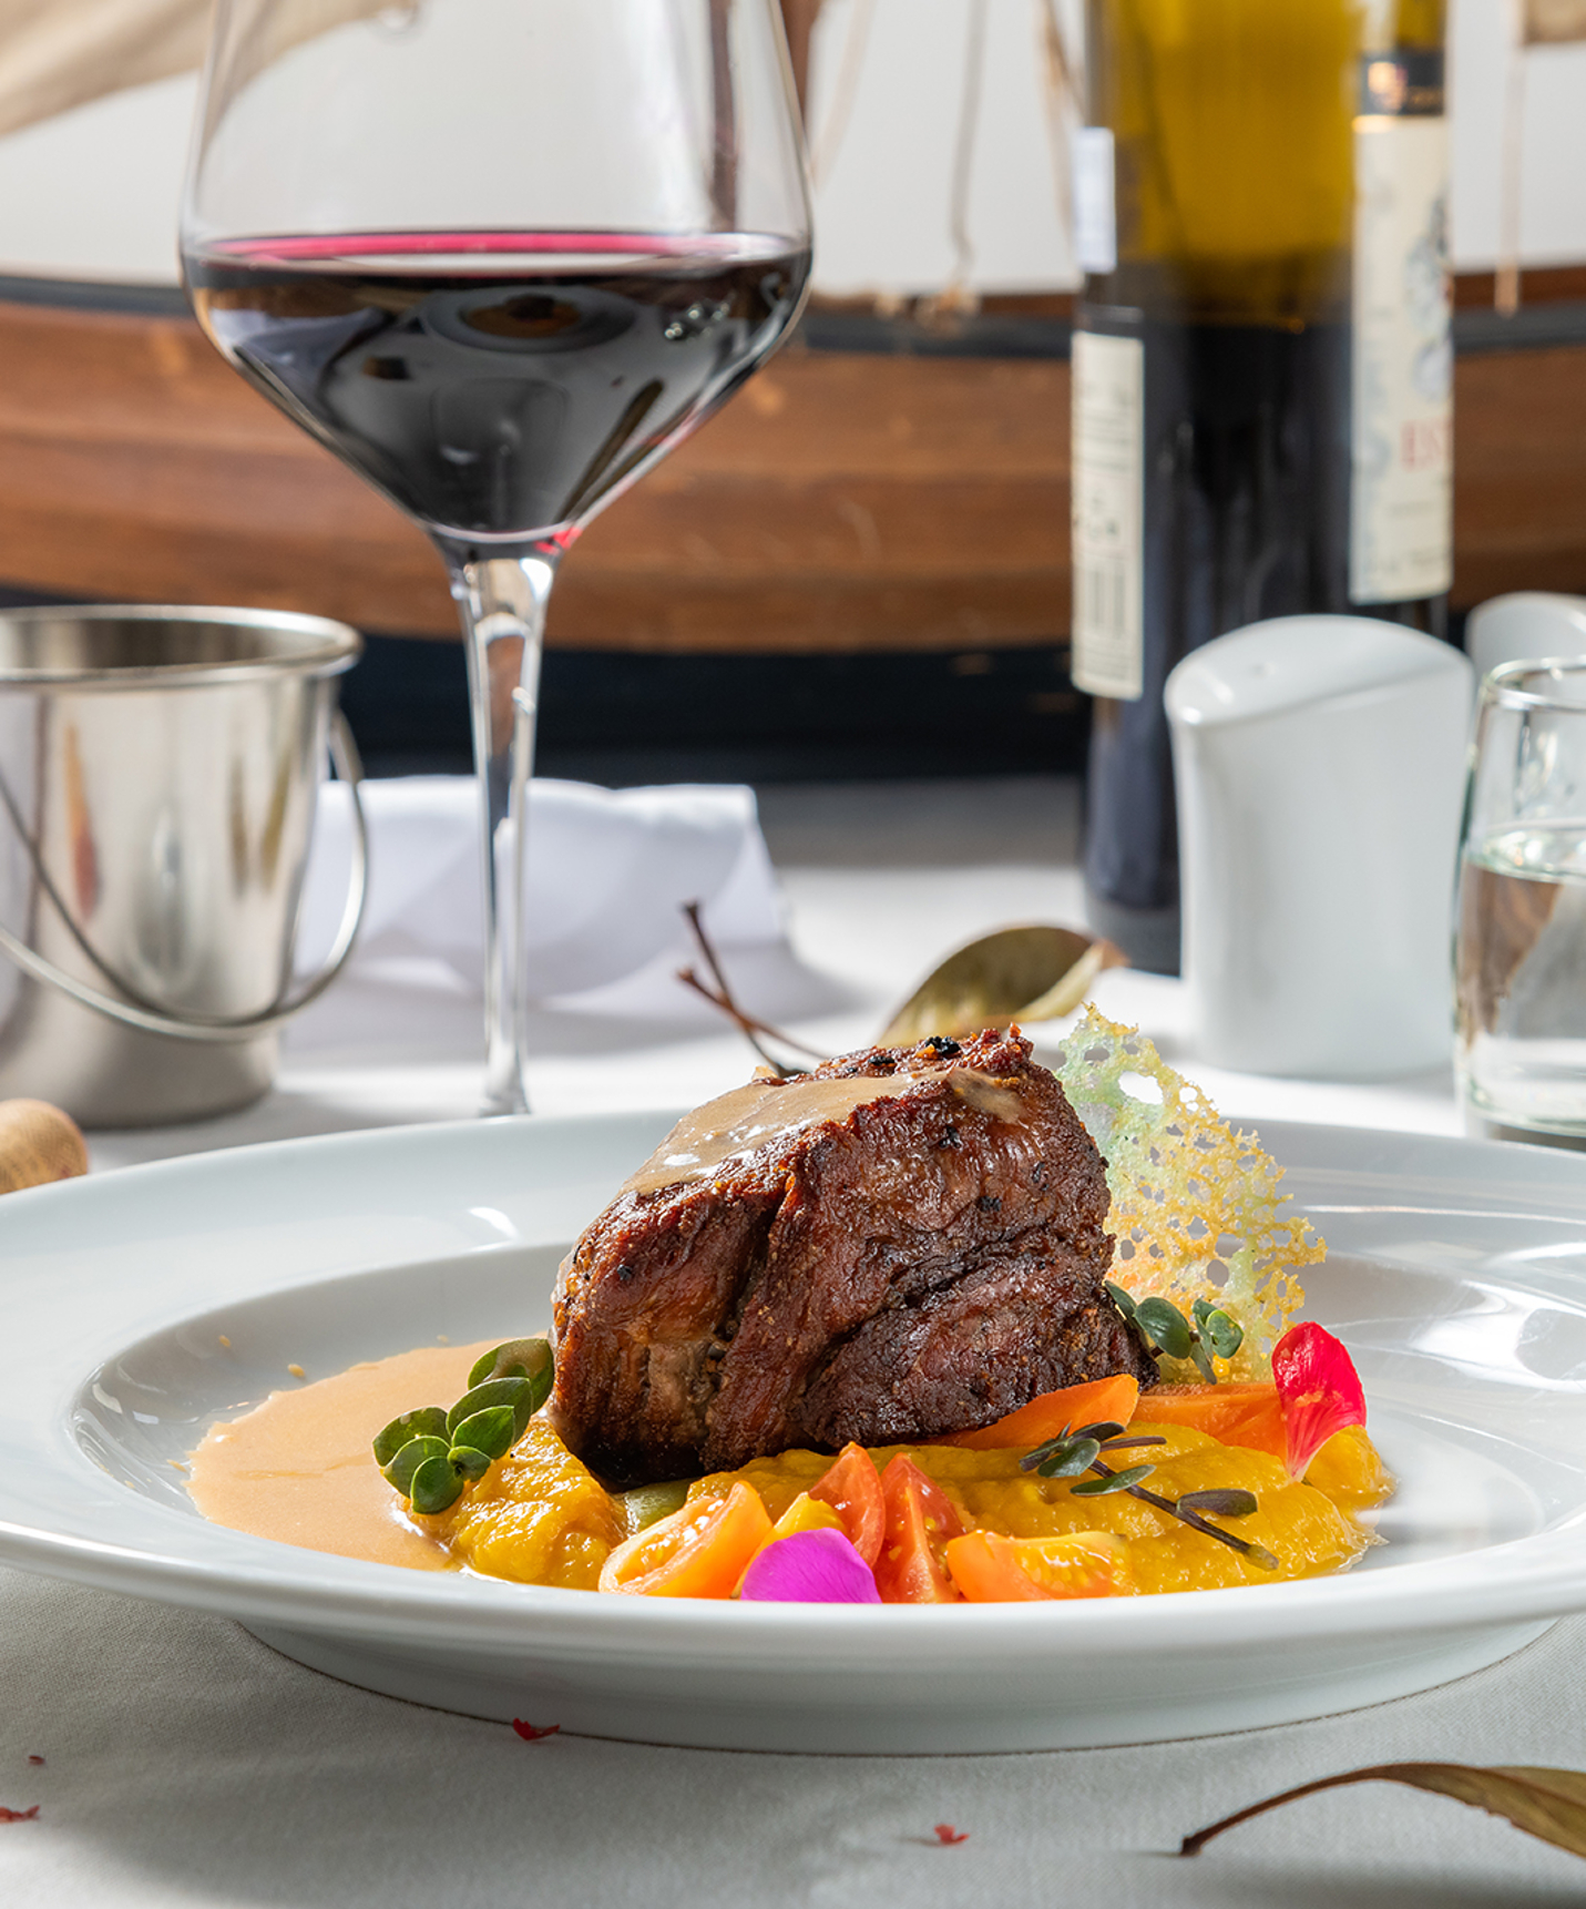
{"label": "thin curved metal handle of the small silver bucket", "polygon": [[[307,1008],[311,1000],[319,1000],[326,987],[330,987],[336,975],[347,966],[347,956],[353,953],[353,941],[357,941],[359,924],[363,922],[365,901],[368,899],[368,817],[363,808],[363,764],[359,762],[353,731],[347,727],[347,718],[340,710],[336,710],[330,718],[330,760],[336,764],[336,773],[353,796],[353,871],[351,880],[347,882],[347,901],[342,907],[342,922],[336,930],[336,939],[330,943],[330,953],[324,956],[319,974],[305,981],[292,1000],[282,1000],[273,1008],[261,1008],[258,1014],[183,1014],[177,1017],[162,1014],[153,1006],[134,1006],[134,1002],[116,1000],[111,995],[103,995],[97,987],[90,987],[86,981],[78,981],[73,975],[63,974],[52,960],[46,960],[44,954],[31,949],[27,941],[11,934],[11,930],[4,924],[0,924],[0,953],[10,954],[17,968],[21,968],[23,974],[32,975],[34,981],[57,987],[63,995],[71,995],[71,998],[80,1002],[84,1008],[94,1008],[95,1014],[120,1021],[124,1027],[139,1027],[149,1035],[170,1035],[174,1040],[227,1044],[250,1040],[256,1035],[265,1035],[271,1029],[281,1027],[282,1021],[290,1019],[302,1008]],[[38,876],[44,893],[55,905],[78,943],[82,943],[84,953],[95,966],[103,968],[103,962],[99,962],[94,951],[82,941],[76,922],[71,918],[61,903],[61,897],[55,893],[55,884],[44,869],[44,857],[38,851],[38,844],[23,827],[21,815],[11,800],[11,790],[4,783],[0,783],[0,800],[10,811],[11,825],[29,853],[29,861],[32,863],[32,871]],[[105,972],[109,974],[109,970]],[[116,981],[116,985],[128,995],[134,995],[136,1000],[134,989],[128,989],[116,975],[111,975],[111,979]]]}

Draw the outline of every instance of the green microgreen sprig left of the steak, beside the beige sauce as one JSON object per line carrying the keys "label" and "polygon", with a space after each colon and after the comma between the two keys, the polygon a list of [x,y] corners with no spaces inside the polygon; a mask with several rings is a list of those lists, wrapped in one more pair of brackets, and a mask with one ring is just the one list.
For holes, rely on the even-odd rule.
{"label": "green microgreen sprig left of the steak, beside the beige sauce", "polygon": [[555,1359],[544,1338],[510,1338],[475,1361],[450,1411],[422,1405],[374,1439],[374,1462],[416,1512],[433,1518],[523,1437],[546,1403]]}

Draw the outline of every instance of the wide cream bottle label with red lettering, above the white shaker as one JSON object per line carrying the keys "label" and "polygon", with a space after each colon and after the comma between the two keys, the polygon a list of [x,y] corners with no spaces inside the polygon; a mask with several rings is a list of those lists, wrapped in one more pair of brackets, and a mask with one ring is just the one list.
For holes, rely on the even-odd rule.
{"label": "wide cream bottle label with red lettering, above the white shaker", "polygon": [[1452,577],[1447,120],[1355,120],[1349,599],[1439,596]]}

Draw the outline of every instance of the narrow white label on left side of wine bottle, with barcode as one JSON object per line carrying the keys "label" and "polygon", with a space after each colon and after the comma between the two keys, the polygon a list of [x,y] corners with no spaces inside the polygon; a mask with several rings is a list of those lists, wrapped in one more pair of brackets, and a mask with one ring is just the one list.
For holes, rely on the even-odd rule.
{"label": "narrow white label on left side of wine bottle, with barcode", "polygon": [[1094,697],[1141,691],[1145,346],[1075,332],[1071,676]]}

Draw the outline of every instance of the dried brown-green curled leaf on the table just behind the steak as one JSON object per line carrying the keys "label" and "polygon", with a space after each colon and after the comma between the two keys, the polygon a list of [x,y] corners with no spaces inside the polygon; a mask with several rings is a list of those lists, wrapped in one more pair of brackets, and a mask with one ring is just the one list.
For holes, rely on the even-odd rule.
{"label": "dried brown-green curled leaf on the table just behind the steak", "polygon": [[983,1027],[1073,1014],[1097,974],[1122,962],[1111,941],[1073,928],[1040,922],[998,928],[926,975],[887,1023],[882,1046],[907,1048],[931,1035],[975,1035]]}

